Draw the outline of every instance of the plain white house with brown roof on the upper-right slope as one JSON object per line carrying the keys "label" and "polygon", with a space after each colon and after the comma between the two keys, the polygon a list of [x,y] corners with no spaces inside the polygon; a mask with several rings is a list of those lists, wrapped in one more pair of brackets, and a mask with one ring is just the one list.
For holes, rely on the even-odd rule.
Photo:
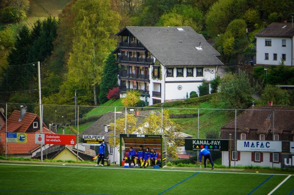
{"label": "plain white house with brown roof on the upper-right slope", "polygon": [[294,65],[293,23],[273,22],[255,37],[256,65]]}

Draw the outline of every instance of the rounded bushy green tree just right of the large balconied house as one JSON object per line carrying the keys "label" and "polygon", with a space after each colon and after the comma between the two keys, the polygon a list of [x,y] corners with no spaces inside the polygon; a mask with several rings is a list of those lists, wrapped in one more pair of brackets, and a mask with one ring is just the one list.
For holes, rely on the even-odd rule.
{"label": "rounded bushy green tree just right of the large balconied house", "polygon": [[252,105],[254,92],[255,88],[251,87],[246,72],[228,74],[221,80],[220,98],[226,108],[248,108]]}

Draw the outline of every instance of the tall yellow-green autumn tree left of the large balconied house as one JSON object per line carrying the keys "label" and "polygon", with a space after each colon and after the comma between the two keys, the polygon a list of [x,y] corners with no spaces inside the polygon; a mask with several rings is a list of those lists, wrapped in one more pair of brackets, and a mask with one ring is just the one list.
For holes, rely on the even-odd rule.
{"label": "tall yellow-green autumn tree left of the large balconied house", "polygon": [[[93,9],[95,7],[95,9]],[[116,46],[120,17],[112,11],[110,0],[77,0],[72,6],[73,51],[68,60],[66,88],[92,87],[97,105],[97,86],[100,84],[104,60]],[[72,96],[73,91],[67,90]]]}

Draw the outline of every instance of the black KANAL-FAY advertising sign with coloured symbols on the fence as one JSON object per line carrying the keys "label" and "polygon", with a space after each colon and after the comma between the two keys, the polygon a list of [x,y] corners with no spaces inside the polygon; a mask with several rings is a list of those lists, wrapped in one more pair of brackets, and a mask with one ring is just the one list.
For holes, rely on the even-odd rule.
{"label": "black KANAL-FAY advertising sign with coloured symbols on the fence", "polygon": [[210,151],[229,151],[229,140],[185,139],[185,150],[197,151],[203,148]]}

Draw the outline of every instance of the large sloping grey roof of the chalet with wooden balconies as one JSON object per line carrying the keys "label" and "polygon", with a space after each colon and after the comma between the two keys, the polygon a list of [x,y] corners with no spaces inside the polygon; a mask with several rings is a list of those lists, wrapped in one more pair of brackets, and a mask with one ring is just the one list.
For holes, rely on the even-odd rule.
{"label": "large sloping grey roof of the chalet with wooden balconies", "polygon": [[[191,27],[127,26],[117,35],[126,35],[126,29],[164,66],[223,65],[216,57],[220,53]],[[197,50],[199,46],[203,50]]]}

